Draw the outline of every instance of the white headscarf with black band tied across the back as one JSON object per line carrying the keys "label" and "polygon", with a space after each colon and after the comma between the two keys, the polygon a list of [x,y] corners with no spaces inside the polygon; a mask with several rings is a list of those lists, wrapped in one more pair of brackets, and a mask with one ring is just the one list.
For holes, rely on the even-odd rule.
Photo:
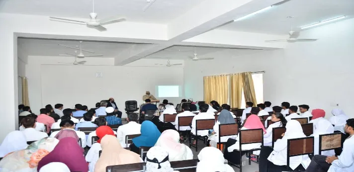
{"label": "white headscarf with black band tied across the back", "polygon": [[146,154],[146,172],[173,172],[169,153],[162,147],[154,146]]}

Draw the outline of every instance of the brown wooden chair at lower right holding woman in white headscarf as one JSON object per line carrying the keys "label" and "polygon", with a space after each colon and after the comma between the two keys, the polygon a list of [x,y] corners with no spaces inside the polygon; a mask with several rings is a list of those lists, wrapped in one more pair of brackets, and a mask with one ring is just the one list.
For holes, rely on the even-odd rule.
{"label": "brown wooden chair at lower right holding woman in white headscarf", "polygon": [[[286,168],[290,172],[290,157],[314,154],[314,137],[287,140]],[[301,164],[300,164],[301,165]],[[295,169],[296,171],[296,169]]]}

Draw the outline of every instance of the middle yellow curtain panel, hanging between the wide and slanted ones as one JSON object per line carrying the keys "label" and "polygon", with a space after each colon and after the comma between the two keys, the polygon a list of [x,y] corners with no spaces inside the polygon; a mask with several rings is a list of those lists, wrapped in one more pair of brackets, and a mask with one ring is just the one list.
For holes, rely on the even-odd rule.
{"label": "middle yellow curtain panel, hanging between the wide and slanted ones", "polygon": [[230,106],[241,108],[243,76],[235,74],[230,76]]}

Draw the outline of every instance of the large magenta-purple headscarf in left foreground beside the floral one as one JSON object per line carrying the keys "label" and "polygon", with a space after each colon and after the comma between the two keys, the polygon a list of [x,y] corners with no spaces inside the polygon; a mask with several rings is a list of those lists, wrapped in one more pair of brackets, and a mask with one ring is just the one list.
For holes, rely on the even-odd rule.
{"label": "large magenta-purple headscarf in left foreground beside the floral one", "polygon": [[84,157],[84,149],[72,137],[59,141],[54,150],[38,163],[38,171],[45,165],[53,162],[64,163],[71,172],[87,172],[89,166]]}

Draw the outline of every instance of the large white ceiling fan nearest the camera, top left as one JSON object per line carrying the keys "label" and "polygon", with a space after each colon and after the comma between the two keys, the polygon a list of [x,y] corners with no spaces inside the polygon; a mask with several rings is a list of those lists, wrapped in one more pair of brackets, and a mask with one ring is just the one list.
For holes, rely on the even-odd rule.
{"label": "large white ceiling fan nearest the camera, top left", "polygon": [[89,16],[91,17],[89,22],[66,19],[66,18],[60,18],[60,17],[49,17],[49,18],[50,19],[57,19],[59,21],[67,21],[67,22],[74,23],[74,24],[86,24],[89,28],[95,28],[95,29],[97,29],[99,31],[106,31],[107,30],[102,25],[116,23],[116,22],[125,20],[125,18],[121,17],[121,16],[111,16],[111,17],[107,17],[107,18],[104,18],[104,19],[97,20],[96,19],[97,13],[94,12],[94,0],[92,0],[92,12],[89,13]]}

